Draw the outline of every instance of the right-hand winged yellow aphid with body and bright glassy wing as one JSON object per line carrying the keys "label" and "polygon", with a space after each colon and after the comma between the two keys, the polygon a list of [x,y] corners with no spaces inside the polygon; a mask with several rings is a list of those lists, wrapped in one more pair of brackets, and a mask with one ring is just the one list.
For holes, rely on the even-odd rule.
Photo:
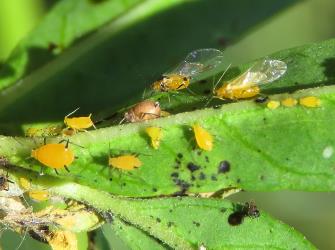
{"label": "right-hand winged yellow aphid with body and bright glassy wing", "polygon": [[283,61],[264,59],[249,68],[242,75],[214,88],[219,99],[245,99],[259,94],[259,85],[273,82],[285,74],[287,65]]}

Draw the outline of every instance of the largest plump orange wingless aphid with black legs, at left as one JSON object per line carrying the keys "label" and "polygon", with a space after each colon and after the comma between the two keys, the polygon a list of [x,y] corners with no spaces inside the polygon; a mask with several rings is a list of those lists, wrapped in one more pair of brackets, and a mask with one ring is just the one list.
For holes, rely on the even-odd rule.
{"label": "largest plump orange wingless aphid with black legs, at left", "polygon": [[63,143],[49,143],[31,151],[31,157],[38,160],[43,165],[53,168],[56,173],[57,169],[65,168],[67,171],[69,166],[74,161],[74,153]]}

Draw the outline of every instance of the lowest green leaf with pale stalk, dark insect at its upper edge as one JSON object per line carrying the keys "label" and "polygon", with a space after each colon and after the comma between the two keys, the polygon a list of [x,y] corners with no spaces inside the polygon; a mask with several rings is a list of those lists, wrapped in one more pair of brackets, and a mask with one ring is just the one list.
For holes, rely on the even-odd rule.
{"label": "lowest green leaf with pale stalk, dark insect at its upper edge", "polygon": [[[70,183],[50,191],[108,210],[173,249],[197,249],[201,245],[207,249],[315,249],[293,228],[262,211],[258,218],[244,216],[241,224],[232,225],[228,218],[243,207],[221,199],[116,198]],[[138,241],[147,240],[147,236],[138,236],[142,238]]]}

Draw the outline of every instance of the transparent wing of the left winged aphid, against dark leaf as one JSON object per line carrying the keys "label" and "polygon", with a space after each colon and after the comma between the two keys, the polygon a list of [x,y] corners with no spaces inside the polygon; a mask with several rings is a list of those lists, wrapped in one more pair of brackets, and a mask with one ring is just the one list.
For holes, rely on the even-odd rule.
{"label": "transparent wing of the left winged aphid, against dark leaf", "polygon": [[164,75],[179,74],[191,77],[202,72],[214,69],[223,61],[223,52],[217,49],[198,49],[189,53],[173,70]]}

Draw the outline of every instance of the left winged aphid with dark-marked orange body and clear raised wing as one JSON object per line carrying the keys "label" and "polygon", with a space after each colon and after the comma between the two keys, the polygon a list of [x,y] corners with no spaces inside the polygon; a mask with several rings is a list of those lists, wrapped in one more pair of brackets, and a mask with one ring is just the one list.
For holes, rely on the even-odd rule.
{"label": "left winged aphid with dark-marked orange body and clear raised wing", "polygon": [[152,89],[161,92],[186,89],[193,77],[217,67],[222,58],[222,51],[217,49],[194,50],[176,68],[164,73],[162,79],[154,82]]}

